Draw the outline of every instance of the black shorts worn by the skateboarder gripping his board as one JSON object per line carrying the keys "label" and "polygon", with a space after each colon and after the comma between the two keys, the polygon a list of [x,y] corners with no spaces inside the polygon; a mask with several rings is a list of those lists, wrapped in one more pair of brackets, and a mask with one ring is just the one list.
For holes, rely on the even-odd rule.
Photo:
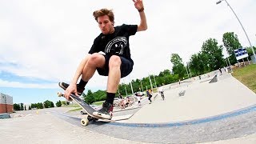
{"label": "black shorts worn by the skateboarder gripping his board", "polygon": [[[103,68],[97,68],[98,74],[103,75],[103,76],[108,76],[109,75],[109,62],[110,62],[110,57],[111,55],[104,55],[105,57],[105,66]],[[126,77],[130,72],[133,70],[134,63],[130,62],[127,58],[124,58],[122,56],[118,56],[121,58],[121,78]]]}

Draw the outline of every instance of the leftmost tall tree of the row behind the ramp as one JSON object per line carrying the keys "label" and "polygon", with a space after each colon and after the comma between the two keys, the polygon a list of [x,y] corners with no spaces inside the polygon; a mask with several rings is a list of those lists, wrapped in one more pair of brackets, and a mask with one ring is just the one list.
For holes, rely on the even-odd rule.
{"label": "leftmost tall tree of the row behind the ramp", "polygon": [[170,62],[173,63],[173,73],[178,74],[179,78],[183,78],[186,73],[186,70],[183,65],[182,58],[178,54],[171,54]]}

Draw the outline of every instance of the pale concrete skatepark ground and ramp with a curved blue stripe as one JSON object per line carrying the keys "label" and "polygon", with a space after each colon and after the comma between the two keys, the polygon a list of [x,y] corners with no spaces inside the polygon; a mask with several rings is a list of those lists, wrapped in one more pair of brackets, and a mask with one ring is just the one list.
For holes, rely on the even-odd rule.
{"label": "pale concrete skatepark ground and ramp with a curved blue stripe", "polygon": [[[210,81],[217,78],[217,82]],[[218,71],[164,86],[166,99],[134,104],[118,122],[81,126],[69,108],[26,111],[0,121],[0,143],[255,143],[256,94],[231,74]],[[14,116],[14,115],[13,115]]]}

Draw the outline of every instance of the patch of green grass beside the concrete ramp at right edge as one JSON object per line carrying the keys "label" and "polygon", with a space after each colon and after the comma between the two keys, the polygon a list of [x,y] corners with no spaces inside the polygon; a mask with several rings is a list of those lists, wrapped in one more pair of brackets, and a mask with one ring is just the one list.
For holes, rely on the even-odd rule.
{"label": "patch of green grass beside the concrete ramp at right edge", "polygon": [[243,67],[236,67],[233,69],[232,74],[234,78],[242,82],[250,90],[256,93],[256,64],[250,64]]}

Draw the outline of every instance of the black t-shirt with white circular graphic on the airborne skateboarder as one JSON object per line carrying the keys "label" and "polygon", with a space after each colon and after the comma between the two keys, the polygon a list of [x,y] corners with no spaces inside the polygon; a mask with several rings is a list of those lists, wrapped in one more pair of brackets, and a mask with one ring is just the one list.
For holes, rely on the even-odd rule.
{"label": "black t-shirt with white circular graphic on the airborne skateboarder", "polygon": [[122,56],[133,62],[130,58],[129,37],[136,34],[137,28],[137,25],[123,24],[122,26],[114,27],[113,34],[99,34],[94,39],[94,44],[91,46],[89,54],[102,51],[105,54]]}

